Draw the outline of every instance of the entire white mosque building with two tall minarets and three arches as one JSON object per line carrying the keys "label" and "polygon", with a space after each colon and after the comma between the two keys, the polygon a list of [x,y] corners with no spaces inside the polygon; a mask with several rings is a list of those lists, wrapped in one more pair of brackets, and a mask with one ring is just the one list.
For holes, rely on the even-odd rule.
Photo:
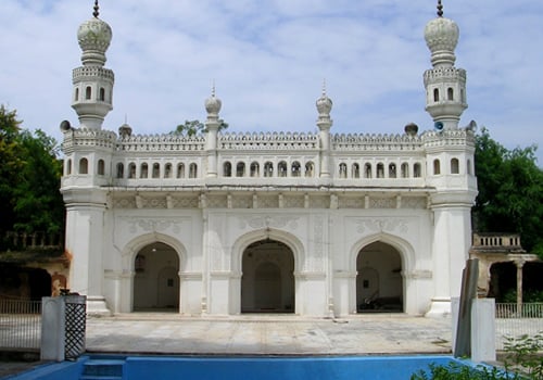
{"label": "entire white mosque building with two tall minarets and three arches", "polygon": [[98,2],[77,37],[79,126],[61,125],[61,191],[67,287],[87,295],[89,314],[450,313],[477,179],[473,123],[459,127],[458,27],[441,1],[425,29],[435,128],[422,132],[411,124],[399,135],[333,134],[326,91],[316,134],[222,132],[213,91],[201,136],[141,136],[126,124],[117,134],[103,127],[114,74]]}

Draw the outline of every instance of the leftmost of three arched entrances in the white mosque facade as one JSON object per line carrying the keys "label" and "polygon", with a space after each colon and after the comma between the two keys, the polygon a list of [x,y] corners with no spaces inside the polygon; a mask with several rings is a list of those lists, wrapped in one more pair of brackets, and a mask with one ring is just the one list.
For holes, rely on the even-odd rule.
{"label": "leftmost of three arched entrances in the white mosque facade", "polygon": [[134,311],[179,311],[179,256],[169,245],[142,248],[134,262]]}

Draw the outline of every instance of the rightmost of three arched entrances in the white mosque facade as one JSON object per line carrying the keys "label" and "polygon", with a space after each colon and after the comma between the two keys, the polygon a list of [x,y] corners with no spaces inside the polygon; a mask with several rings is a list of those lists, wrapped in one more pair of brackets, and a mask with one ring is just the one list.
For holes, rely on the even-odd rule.
{"label": "rightmost of three arched entrances in the white mosque facade", "polygon": [[402,257],[390,244],[377,241],[356,256],[356,311],[403,312]]}

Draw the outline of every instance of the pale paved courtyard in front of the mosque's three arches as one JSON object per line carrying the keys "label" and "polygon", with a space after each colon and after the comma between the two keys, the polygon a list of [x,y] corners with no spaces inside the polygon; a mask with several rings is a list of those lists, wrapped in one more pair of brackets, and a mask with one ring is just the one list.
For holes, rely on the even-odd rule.
{"label": "pale paved courtyard in front of the mosque's three arches", "polygon": [[134,313],[87,320],[87,351],[201,355],[368,355],[451,352],[451,319],[401,314],[311,319],[190,318]]}

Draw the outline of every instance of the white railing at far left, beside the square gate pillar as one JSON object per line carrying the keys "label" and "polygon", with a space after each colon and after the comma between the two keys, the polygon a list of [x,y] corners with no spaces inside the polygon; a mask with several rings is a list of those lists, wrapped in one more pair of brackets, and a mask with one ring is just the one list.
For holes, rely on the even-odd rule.
{"label": "white railing at far left, beside the square gate pillar", "polygon": [[0,300],[0,350],[39,350],[41,301]]}

